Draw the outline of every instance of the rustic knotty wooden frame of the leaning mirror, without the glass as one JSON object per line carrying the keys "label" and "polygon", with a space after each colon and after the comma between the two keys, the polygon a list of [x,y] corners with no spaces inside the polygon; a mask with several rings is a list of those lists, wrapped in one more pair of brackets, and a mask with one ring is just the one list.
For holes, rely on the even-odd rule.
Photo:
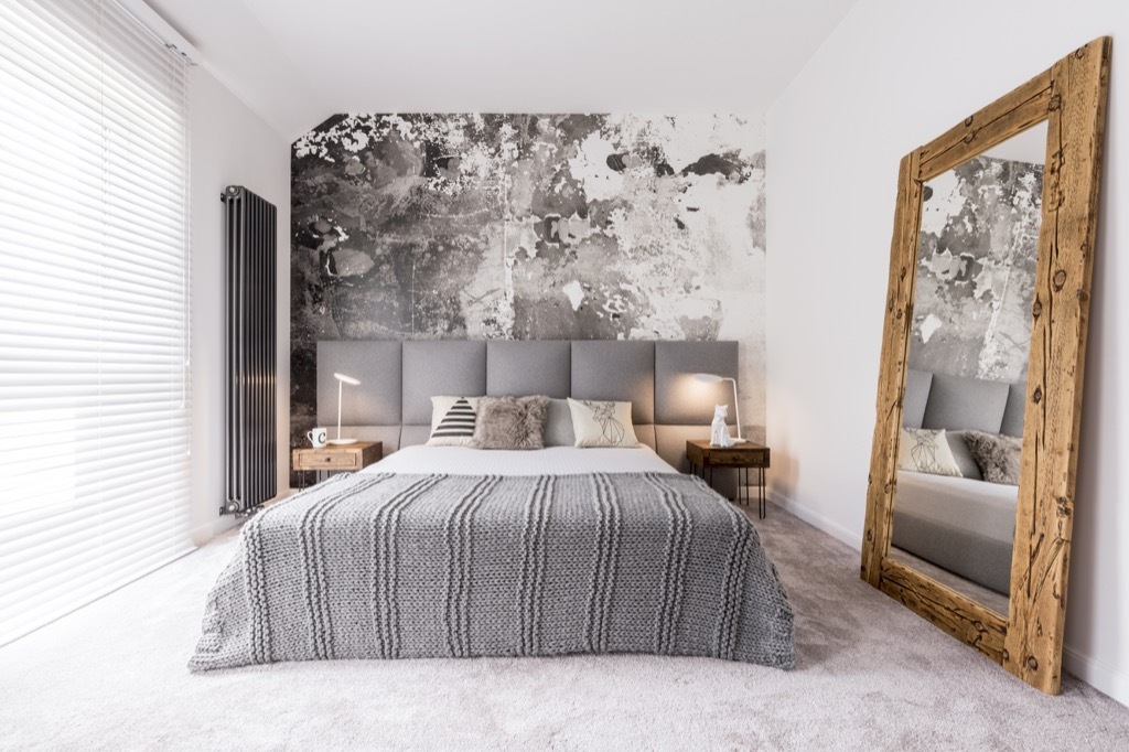
{"label": "rustic knotty wooden frame of the leaning mirror, without the glass", "polygon": [[[863,579],[1051,694],[1061,689],[1110,51],[1110,37],[1094,40],[902,158],[867,487]],[[1044,120],[1048,137],[1042,227],[1010,598],[1005,619],[891,559],[890,537],[922,184]]]}

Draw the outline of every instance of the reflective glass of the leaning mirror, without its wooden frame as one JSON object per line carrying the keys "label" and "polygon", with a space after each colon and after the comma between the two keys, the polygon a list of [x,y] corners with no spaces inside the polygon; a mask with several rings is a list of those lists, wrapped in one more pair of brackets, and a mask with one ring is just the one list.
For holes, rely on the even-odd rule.
{"label": "reflective glass of the leaning mirror, without its wooden frame", "polygon": [[1047,123],[928,181],[890,556],[1007,614]]}

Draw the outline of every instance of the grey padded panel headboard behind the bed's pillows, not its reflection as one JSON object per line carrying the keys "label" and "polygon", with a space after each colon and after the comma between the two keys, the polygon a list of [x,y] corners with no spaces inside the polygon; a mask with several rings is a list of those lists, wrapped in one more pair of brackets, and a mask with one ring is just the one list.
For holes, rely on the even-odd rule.
{"label": "grey padded panel headboard behind the bed's pillows, not its reflection", "polygon": [[[631,402],[639,440],[686,471],[686,439],[709,438],[714,404],[733,404],[728,383],[702,384],[703,371],[737,377],[736,342],[642,341],[325,341],[317,343],[317,422],[335,426],[334,373],[345,387],[341,423],[349,436],[384,441],[385,454],[423,444],[431,397],[544,394]],[[729,420],[733,422],[733,410]]]}

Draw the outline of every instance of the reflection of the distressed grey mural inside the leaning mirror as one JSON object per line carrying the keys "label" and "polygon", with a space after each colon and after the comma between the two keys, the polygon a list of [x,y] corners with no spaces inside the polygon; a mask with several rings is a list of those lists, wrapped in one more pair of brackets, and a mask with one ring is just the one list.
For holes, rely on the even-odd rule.
{"label": "reflection of the distressed grey mural inside the leaning mirror", "polygon": [[1025,378],[1043,166],[977,157],[925,186],[911,368]]}

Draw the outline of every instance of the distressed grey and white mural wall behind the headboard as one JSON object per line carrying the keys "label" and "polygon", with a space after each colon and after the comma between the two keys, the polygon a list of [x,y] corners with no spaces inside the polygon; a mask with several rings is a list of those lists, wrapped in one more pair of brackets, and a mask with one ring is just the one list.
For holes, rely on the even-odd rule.
{"label": "distressed grey and white mural wall behind the headboard", "polygon": [[734,339],[762,437],[763,143],[729,115],[322,123],[292,154],[292,440],[322,339]]}

